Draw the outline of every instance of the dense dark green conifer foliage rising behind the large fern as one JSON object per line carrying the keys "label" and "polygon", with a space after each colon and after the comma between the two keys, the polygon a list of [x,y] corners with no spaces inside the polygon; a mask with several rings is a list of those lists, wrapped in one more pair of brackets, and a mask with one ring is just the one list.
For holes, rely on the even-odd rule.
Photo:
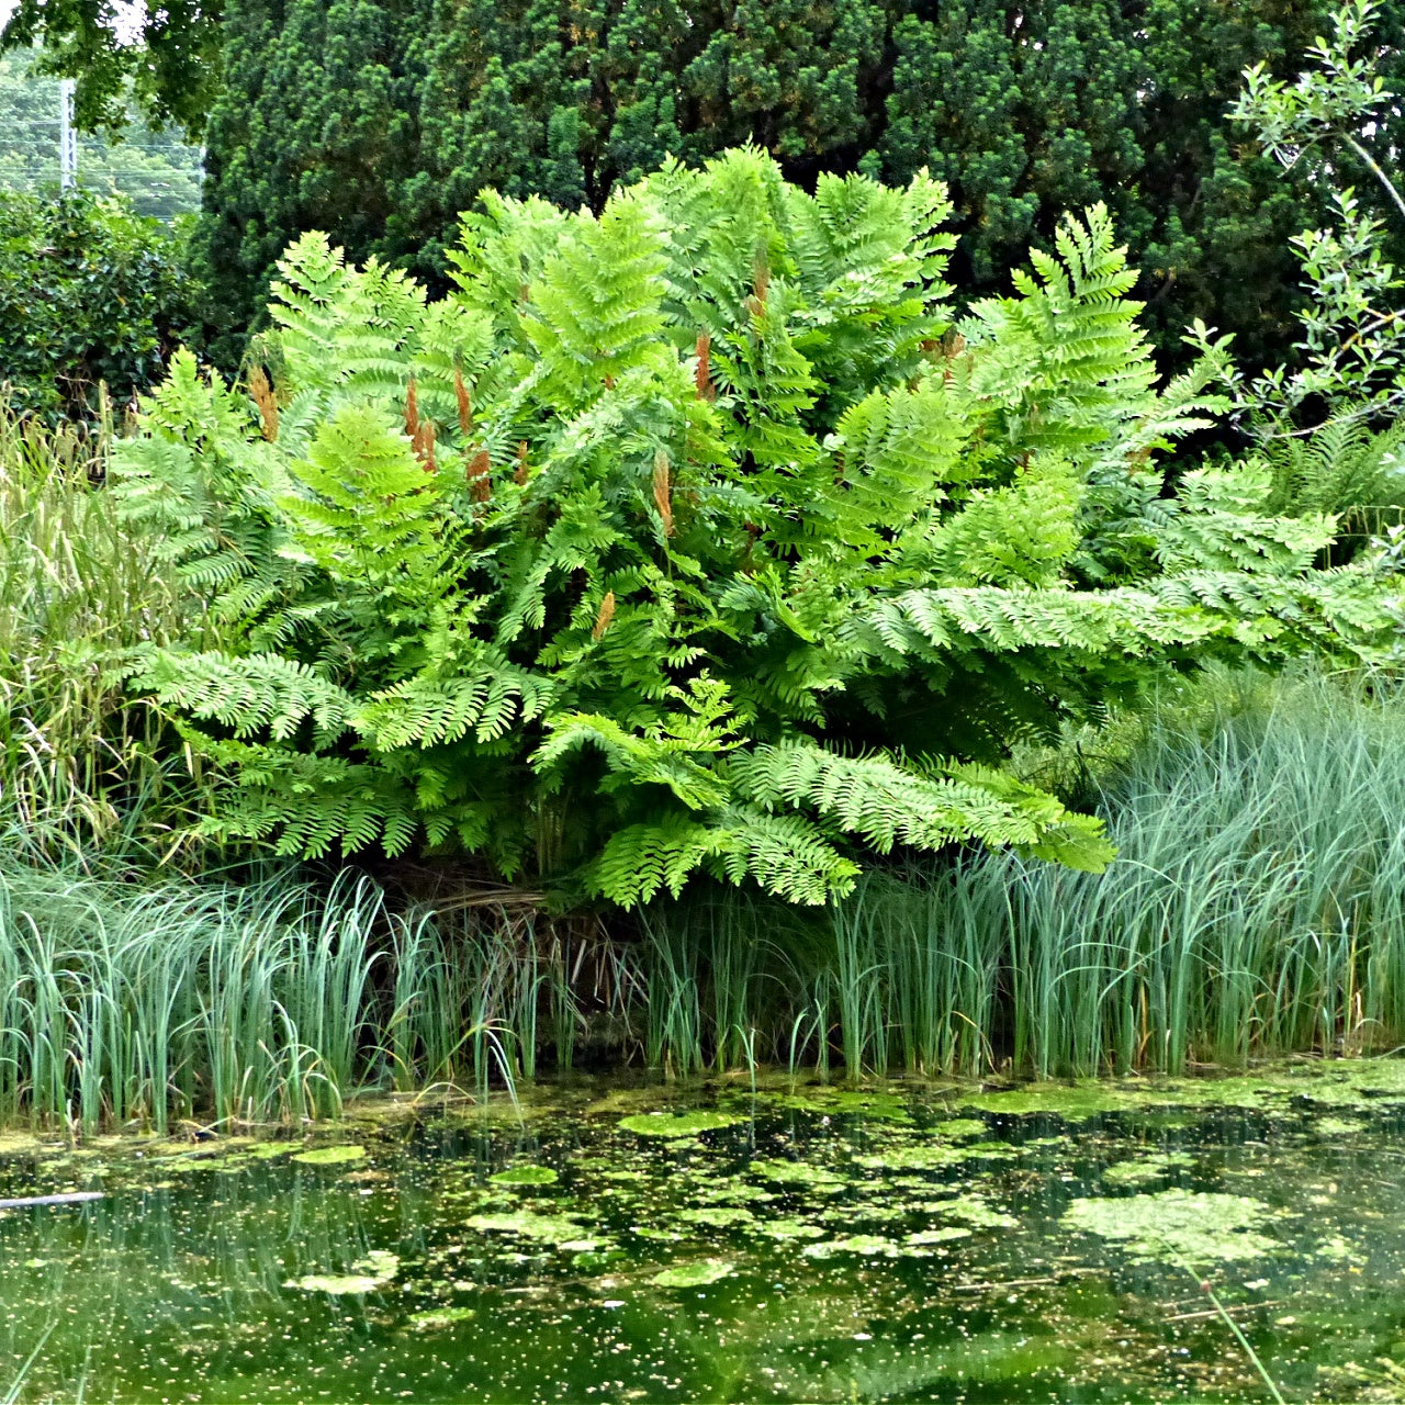
{"label": "dense dark green conifer foliage rising behind the large fern", "polygon": [[[1280,180],[1228,110],[1246,66],[1300,66],[1325,3],[249,0],[226,21],[208,133],[212,316],[233,364],[306,230],[441,288],[485,185],[599,211],[669,155],[753,142],[806,188],[930,169],[971,296],[1102,201],[1161,354],[1201,318],[1257,368],[1291,344],[1287,240],[1322,208],[1311,173]],[[1399,35],[1394,0],[1384,24]]]}

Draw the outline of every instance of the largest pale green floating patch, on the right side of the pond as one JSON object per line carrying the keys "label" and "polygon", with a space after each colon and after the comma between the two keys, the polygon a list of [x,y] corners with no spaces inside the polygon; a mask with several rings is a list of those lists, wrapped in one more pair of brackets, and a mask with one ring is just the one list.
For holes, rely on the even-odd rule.
{"label": "largest pale green floating patch, on the right side of the pond", "polygon": [[1135,1259],[1196,1264],[1276,1253],[1280,1245],[1259,1232],[1272,1218],[1260,1200],[1190,1190],[1075,1200],[1064,1213],[1068,1228],[1121,1243]]}

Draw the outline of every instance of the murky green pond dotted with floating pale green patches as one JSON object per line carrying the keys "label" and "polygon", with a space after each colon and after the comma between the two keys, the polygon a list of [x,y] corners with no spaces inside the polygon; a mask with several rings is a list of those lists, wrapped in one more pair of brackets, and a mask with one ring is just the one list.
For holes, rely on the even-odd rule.
{"label": "murky green pond dotted with floating pale green patches", "polygon": [[0,1138],[0,1398],[1405,1399],[1405,1062]]}

